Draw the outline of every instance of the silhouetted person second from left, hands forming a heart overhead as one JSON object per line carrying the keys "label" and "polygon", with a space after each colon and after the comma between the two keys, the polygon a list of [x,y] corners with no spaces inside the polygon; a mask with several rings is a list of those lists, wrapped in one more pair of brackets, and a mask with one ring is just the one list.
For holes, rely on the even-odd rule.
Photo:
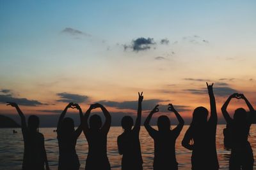
{"label": "silhouetted person second from left, hands forming a heart overhead", "polygon": [[[79,110],[81,124],[74,129],[74,120],[65,117],[68,108]],[[60,115],[57,126],[57,138],[59,145],[59,170],[76,170],[79,169],[80,163],[76,154],[76,141],[83,131],[83,112],[78,104],[69,103]]]}

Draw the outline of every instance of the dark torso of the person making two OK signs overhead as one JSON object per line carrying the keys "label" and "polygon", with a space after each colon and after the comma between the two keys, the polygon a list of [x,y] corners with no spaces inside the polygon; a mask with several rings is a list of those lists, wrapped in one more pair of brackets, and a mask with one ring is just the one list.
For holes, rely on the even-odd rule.
{"label": "dark torso of the person making two OK signs overhead", "polygon": [[178,163],[175,157],[175,142],[180,131],[149,132],[154,139],[154,169],[177,169]]}

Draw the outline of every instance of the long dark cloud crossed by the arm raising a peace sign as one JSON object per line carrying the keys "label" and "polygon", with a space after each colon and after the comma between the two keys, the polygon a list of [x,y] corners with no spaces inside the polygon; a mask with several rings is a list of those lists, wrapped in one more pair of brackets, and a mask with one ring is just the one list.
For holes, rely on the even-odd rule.
{"label": "long dark cloud crossed by the arm raising a peace sign", "polygon": [[[142,108],[143,110],[152,110],[156,104],[167,102],[168,100],[160,100],[160,99],[149,99],[143,100]],[[105,106],[114,107],[118,109],[129,109],[129,110],[137,110],[138,101],[99,101],[97,103],[103,104]]]}

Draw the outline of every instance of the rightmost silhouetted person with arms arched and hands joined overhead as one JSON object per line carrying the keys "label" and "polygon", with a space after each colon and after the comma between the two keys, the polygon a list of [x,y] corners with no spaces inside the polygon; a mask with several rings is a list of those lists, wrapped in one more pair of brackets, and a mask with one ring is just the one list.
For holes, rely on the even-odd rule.
{"label": "rightmost silhouetted person with arms arched and hands joined overhead", "polygon": [[[250,112],[247,114],[243,108],[238,108],[234,113],[234,118],[231,118],[227,112],[227,106],[232,98],[244,99]],[[250,126],[252,125],[255,115],[252,104],[244,97],[243,94],[232,94],[221,108],[222,114],[230,125],[231,131],[231,155],[229,159],[229,169],[237,170],[253,169],[253,152],[248,141]]]}

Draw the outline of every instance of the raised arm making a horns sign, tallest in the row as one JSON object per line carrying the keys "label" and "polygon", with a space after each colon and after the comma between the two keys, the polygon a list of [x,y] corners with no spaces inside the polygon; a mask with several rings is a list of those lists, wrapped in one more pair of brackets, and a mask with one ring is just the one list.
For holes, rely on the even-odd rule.
{"label": "raised arm making a horns sign, tallest in the row", "polygon": [[211,116],[209,118],[209,122],[212,122],[217,125],[218,117],[217,117],[217,111],[216,111],[216,101],[215,101],[215,97],[212,90],[213,83],[212,85],[208,85],[208,83],[206,84],[207,84],[208,94],[210,97],[210,105],[211,105]]}

